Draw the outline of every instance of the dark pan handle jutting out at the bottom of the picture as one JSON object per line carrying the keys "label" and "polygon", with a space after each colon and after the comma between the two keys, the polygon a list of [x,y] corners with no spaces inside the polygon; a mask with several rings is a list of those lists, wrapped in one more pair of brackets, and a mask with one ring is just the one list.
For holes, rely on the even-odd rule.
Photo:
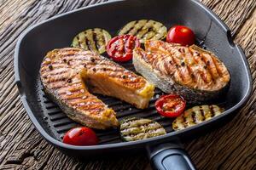
{"label": "dark pan handle jutting out at the bottom of the picture", "polygon": [[156,170],[195,170],[189,155],[178,144],[166,143],[148,147],[151,167]]}

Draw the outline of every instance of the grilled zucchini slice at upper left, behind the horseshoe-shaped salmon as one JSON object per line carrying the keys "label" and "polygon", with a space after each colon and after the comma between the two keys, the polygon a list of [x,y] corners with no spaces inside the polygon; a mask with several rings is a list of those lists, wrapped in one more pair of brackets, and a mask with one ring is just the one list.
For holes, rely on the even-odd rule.
{"label": "grilled zucchini slice at upper left, behind the horseshoe-shaped salmon", "polygon": [[106,30],[101,28],[88,29],[73,38],[72,47],[102,54],[106,51],[106,45],[110,39],[111,36]]}

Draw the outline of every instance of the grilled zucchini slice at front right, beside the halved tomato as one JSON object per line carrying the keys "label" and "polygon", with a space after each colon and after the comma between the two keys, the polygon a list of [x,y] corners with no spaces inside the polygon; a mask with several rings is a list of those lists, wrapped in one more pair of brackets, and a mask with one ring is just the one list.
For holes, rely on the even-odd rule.
{"label": "grilled zucchini slice at front right, beside the halved tomato", "polygon": [[178,116],[172,122],[172,128],[173,130],[182,130],[186,127],[192,127],[220,115],[223,111],[224,109],[218,107],[218,105],[194,106],[185,111],[181,116]]}

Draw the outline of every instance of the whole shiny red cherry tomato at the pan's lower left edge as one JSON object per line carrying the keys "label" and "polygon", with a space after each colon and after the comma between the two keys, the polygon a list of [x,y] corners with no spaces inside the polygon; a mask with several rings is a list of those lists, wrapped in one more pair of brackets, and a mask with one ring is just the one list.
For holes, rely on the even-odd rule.
{"label": "whole shiny red cherry tomato at the pan's lower left edge", "polygon": [[63,142],[72,145],[95,145],[99,139],[88,127],[74,127],[64,135]]}

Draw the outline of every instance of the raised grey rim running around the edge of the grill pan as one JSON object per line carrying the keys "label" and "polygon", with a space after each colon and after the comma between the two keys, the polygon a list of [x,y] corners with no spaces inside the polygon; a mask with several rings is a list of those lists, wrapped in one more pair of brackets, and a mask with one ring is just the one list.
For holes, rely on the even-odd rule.
{"label": "raised grey rim running around the edge of the grill pan", "polygon": [[100,144],[100,145],[93,145],[93,146],[75,146],[75,145],[70,145],[70,144],[64,144],[61,141],[53,138],[52,136],[49,135],[49,133],[47,133],[44,130],[44,127],[42,127],[40,125],[40,123],[38,122],[38,118],[32,113],[32,109],[29,106],[29,101],[27,101],[26,99],[26,94],[23,92],[22,90],[22,86],[21,86],[21,82],[20,82],[20,71],[19,71],[19,54],[20,54],[20,43],[24,40],[24,38],[26,37],[26,35],[32,31],[33,29],[36,29],[38,26],[44,25],[44,23],[47,23],[49,21],[58,19],[60,17],[66,16],[68,14],[73,14],[73,13],[77,13],[79,11],[82,10],[86,10],[87,8],[93,8],[96,6],[100,6],[103,4],[108,4],[108,3],[120,3],[120,2],[124,2],[125,0],[117,0],[117,1],[112,1],[112,2],[105,2],[105,3],[98,3],[95,5],[90,5],[88,7],[84,7],[84,8],[79,8],[79,9],[75,9],[73,11],[69,11],[65,14],[60,14],[60,15],[56,15],[55,17],[50,18],[49,20],[44,20],[43,22],[40,22],[34,26],[29,27],[28,29],[26,29],[26,31],[24,31],[19,39],[18,42],[16,43],[15,46],[15,83],[17,84],[17,87],[19,89],[20,92],[20,99],[22,104],[24,105],[24,108],[27,112],[27,115],[30,117],[30,119],[32,120],[32,123],[34,124],[34,126],[37,128],[38,132],[42,134],[42,136],[44,137],[44,139],[46,139],[47,141],[49,141],[49,143],[51,144],[55,144],[55,146],[61,147],[63,149],[68,149],[68,150],[102,150],[102,149],[113,149],[113,148],[119,148],[119,147],[125,147],[125,146],[131,146],[131,145],[137,145],[137,144],[148,144],[150,142],[153,141],[159,141],[159,140],[164,140],[164,139],[172,139],[174,137],[177,137],[179,134],[182,133],[188,133],[189,131],[192,131],[193,129],[198,129],[198,128],[202,128],[205,127],[207,124],[210,124],[212,122],[216,122],[218,119],[224,117],[224,116],[228,116],[231,113],[233,113],[234,111],[239,110],[243,105],[246,105],[247,100],[250,98],[251,93],[252,93],[252,77],[250,74],[250,68],[249,65],[247,63],[247,59],[245,54],[242,52],[241,47],[239,45],[236,45],[233,40],[232,37],[230,36],[230,30],[229,28],[224,24],[224,22],[222,20],[220,20],[218,18],[218,16],[216,14],[213,14],[212,11],[207,8],[206,6],[204,6],[203,4],[201,4],[200,2],[197,2],[195,0],[191,0],[191,2],[196,3],[199,5],[199,7],[201,9],[203,9],[206,14],[210,14],[212,15],[212,21],[216,22],[218,26],[221,26],[224,31],[227,32],[227,37],[228,40],[230,42],[230,46],[232,48],[236,48],[238,50],[238,52],[240,53],[240,57],[242,60],[242,66],[245,68],[246,70],[246,78],[247,78],[247,91],[244,94],[243,98],[234,106],[232,106],[229,110],[224,111],[224,114],[217,116],[217,117],[213,117],[211,120],[207,121],[207,122],[201,122],[200,124],[194,126],[194,127],[189,127],[180,131],[174,131],[172,133],[167,133],[165,135],[162,136],[158,136],[158,137],[154,137],[151,139],[143,139],[143,140],[138,140],[138,141],[131,141],[131,142],[123,142],[123,143],[115,143],[115,144]]}

